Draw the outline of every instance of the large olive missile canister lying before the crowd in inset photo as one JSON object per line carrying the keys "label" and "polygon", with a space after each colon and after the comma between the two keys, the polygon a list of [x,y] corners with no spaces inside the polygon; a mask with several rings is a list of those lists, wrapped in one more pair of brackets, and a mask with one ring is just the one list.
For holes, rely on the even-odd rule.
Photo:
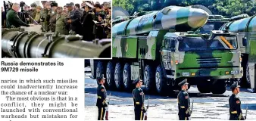
{"label": "large olive missile canister lying before the crowd in inset photo", "polygon": [[110,58],[111,39],[82,41],[83,36],[2,29],[2,57]]}

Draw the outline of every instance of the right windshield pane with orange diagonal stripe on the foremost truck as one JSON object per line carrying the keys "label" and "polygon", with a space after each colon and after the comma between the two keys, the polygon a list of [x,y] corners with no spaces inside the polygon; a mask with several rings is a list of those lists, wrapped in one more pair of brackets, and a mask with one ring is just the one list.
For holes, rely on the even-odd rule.
{"label": "right windshield pane with orange diagonal stripe on the foremost truck", "polygon": [[208,43],[211,50],[237,49],[236,36],[216,36]]}

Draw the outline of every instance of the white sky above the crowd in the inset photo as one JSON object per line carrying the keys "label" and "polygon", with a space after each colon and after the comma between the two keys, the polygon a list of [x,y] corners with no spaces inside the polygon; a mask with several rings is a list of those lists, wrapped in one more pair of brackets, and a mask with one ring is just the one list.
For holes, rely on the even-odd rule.
{"label": "white sky above the crowd in the inset photo", "polygon": [[[17,3],[25,2],[26,5],[29,5],[29,6],[33,2],[36,2],[36,3],[39,3],[40,6],[42,6],[41,1],[35,1],[35,0],[9,0],[9,1],[12,2],[12,3],[14,3],[14,2],[17,2]],[[103,2],[110,2],[111,0],[91,0],[91,1],[103,3]],[[8,2],[8,1],[5,1],[5,2]],[[67,3],[70,3],[70,2],[73,2],[74,4],[76,4],[76,3],[81,4],[83,2],[83,0],[56,0],[55,2],[58,3],[58,6],[64,6],[64,5],[66,5]]]}

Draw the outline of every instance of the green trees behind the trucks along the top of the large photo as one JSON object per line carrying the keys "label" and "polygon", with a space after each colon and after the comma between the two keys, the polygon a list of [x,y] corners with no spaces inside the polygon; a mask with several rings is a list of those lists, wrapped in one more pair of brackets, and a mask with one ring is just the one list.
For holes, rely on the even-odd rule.
{"label": "green trees behind the trucks along the top of the large photo", "polygon": [[254,0],[113,0],[113,6],[120,6],[130,14],[135,11],[158,11],[170,5],[204,5],[213,14],[226,17],[239,14],[250,16],[256,14],[256,2]]}

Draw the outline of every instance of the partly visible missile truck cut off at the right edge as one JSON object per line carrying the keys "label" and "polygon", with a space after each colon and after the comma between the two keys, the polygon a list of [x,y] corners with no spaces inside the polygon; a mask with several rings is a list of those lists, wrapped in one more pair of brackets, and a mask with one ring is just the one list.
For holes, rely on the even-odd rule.
{"label": "partly visible missile truck cut off at the right edge", "polygon": [[[242,19],[239,19],[239,17],[242,17]],[[251,80],[251,73],[254,73],[254,71],[250,71],[249,67],[254,67],[256,63],[256,15],[243,17],[244,15],[233,17],[233,21],[224,24],[220,29],[229,29],[230,32],[239,34],[238,40],[242,53],[242,67],[245,72],[242,78],[242,85],[248,88],[255,88],[254,80]]]}

